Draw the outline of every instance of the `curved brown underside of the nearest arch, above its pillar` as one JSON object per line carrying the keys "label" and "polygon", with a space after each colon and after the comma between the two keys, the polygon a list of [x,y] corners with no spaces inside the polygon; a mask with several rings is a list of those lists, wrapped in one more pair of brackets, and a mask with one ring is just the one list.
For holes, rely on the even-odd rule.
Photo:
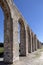
{"label": "curved brown underside of the nearest arch, above its pillar", "polygon": [[[4,11],[4,16],[5,17],[11,17],[11,15],[9,14],[10,13],[10,9],[9,9],[9,6],[8,6],[8,3],[7,3],[7,1],[4,1],[4,0],[0,0],[0,6],[1,6],[1,8],[3,9],[3,11]],[[7,16],[6,16],[7,15]]]}

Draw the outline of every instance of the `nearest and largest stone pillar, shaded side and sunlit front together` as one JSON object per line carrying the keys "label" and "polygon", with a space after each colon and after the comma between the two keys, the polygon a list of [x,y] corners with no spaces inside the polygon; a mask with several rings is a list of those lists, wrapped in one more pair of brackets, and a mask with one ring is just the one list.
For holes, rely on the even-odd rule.
{"label": "nearest and largest stone pillar, shaded side and sunlit front together", "polygon": [[18,23],[16,20],[5,20],[4,27],[4,62],[13,63],[19,60]]}

